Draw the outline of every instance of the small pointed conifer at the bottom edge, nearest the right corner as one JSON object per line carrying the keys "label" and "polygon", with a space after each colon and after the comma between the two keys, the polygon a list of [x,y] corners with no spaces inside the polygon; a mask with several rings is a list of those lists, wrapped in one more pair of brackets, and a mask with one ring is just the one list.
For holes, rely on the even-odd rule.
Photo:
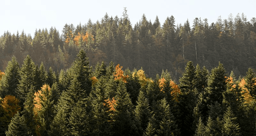
{"label": "small pointed conifer at the bottom edge, nearest the right corner", "polygon": [[223,127],[221,132],[225,136],[241,136],[239,124],[236,123],[236,117],[230,107],[223,116]]}

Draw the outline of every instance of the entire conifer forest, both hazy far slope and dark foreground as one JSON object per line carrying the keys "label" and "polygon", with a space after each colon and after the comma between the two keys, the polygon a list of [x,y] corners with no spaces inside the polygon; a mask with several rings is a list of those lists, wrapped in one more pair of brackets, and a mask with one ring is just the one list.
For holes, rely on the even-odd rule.
{"label": "entire conifer forest, both hazy far slope and dark foreground", "polygon": [[0,36],[0,135],[254,136],[256,18],[143,14]]}

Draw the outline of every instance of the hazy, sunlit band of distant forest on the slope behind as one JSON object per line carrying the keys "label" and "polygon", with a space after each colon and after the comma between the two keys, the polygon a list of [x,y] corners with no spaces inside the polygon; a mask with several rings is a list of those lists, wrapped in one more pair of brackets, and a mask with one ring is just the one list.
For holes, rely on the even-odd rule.
{"label": "hazy, sunlit band of distant forest on the slope behind", "polygon": [[4,32],[0,37],[0,69],[13,55],[22,64],[29,54],[38,66],[44,62],[54,71],[66,70],[84,49],[91,66],[113,61],[124,68],[143,67],[149,77],[169,69],[177,82],[188,61],[208,70],[220,61],[227,71],[245,75],[247,68],[255,68],[255,23],[255,18],[249,20],[244,14],[230,14],[227,19],[218,17],[215,23],[195,18],[192,24],[187,20],[182,25],[170,16],[160,24],[157,16],[151,22],[143,14],[132,27],[125,9],[121,18],[106,13],[96,23],[89,19],[84,25],[65,24],[61,33],[53,27],[36,30],[33,38],[24,31]]}

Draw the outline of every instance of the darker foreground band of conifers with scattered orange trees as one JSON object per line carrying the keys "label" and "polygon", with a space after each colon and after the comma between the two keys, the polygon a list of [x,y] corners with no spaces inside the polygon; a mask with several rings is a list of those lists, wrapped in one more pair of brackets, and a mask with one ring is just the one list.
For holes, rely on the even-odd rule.
{"label": "darker foreground band of conifers with scattered orange trees", "polygon": [[0,80],[0,134],[12,135],[254,135],[256,75],[209,72],[188,61],[179,84],[168,70],[155,78],[132,71],[90,67],[79,51],[67,70],[46,70],[30,55],[22,67],[8,61]]}

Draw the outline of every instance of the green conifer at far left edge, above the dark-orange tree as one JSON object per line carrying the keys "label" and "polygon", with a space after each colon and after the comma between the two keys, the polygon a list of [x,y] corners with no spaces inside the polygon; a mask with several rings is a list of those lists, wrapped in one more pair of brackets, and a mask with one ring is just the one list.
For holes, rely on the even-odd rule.
{"label": "green conifer at far left edge, above the dark-orange tree", "polygon": [[5,68],[5,75],[0,80],[0,97],[5,95],[15,95],[15,90],[20,80],[20,66],[16,57],[12,57],[12,60],[8,62]]}

